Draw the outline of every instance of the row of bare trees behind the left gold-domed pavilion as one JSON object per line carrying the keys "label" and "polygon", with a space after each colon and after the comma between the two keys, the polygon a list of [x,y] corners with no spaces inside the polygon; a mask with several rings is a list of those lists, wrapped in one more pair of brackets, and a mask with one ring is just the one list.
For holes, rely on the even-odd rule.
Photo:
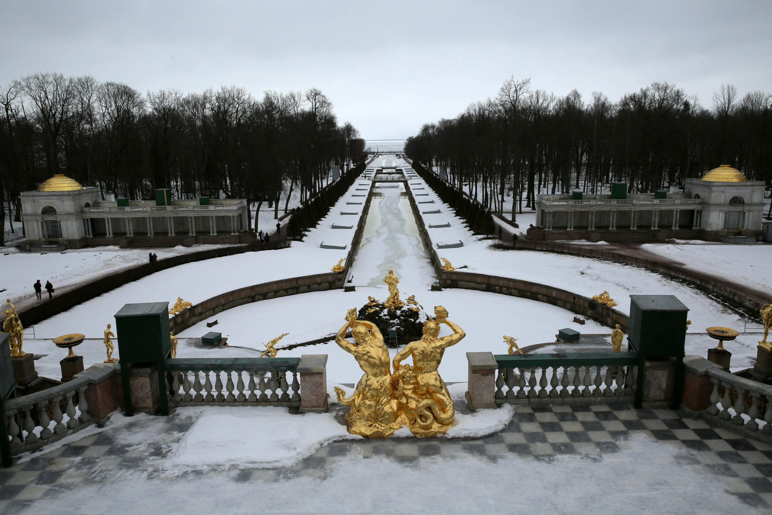
{"label": "row of bare trees behind the left gold-domed pavilion", "polygon": [[317,89],[260,99],[237,86],[143,95],[91,76],[35,73],[2,90],[0,105],[0,216],[18,217],[19,192],[53,174],[128,198],[172,188],[176,198],[276,202],[278,212],[279,199],[295,191],[304,201],[331,167],[364,158],[357,130],[338,126]]}

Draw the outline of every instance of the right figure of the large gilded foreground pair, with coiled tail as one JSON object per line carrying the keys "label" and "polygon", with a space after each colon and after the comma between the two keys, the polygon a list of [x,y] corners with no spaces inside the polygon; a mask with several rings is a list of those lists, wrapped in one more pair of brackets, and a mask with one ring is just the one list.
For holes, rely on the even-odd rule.
{"label": "right figure of the large gilded foreground pair, with coiled tail", "polygon": [[[392,360],[397,379],[394,395],[400,413],[415,436],[444,435],[455,422],[455,410],[448,387],[437,369],[445,349],[462,341],[466,333],[447,319],[448,310],[435,306],[435,319],[426,320],[421,340],[412,341]],[[453,334],[439,337],[439,326],[445,324]],[[408,356],[412,365],[402,365]]]}

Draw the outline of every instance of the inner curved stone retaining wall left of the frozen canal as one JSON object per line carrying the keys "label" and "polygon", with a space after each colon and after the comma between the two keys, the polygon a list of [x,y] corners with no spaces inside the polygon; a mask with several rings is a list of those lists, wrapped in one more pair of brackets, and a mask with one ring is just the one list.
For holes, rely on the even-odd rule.
{"label": "inner curved stone retaining wall left of the frozen canal", "polygon": [[242,304],[276,299],[280,296],[297,295],[298,293],[343,288],[344,277],[343,272],[327,272],[317,273],[313,276],[291,277],[289,279],[271,281],[270,283],[245,286],[238,290],[213,296],[211,299],[195,304],[190,309],[174,315],[169,320],[169,326],[171,332],[178,333],[217,313],[230,310]]}

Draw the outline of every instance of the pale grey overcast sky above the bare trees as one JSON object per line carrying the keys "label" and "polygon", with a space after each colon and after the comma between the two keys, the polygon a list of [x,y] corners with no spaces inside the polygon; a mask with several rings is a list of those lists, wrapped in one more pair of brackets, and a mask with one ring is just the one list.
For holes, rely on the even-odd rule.
{"label": "pale grey overcast sky above the bare trees", "polygon": [[[638,5],[638,4],[645,5]],[[137,90],[320,88],[367,139],[402,139],[509,77],[587,100],[652,81],[711,103],[772,92],[772,2],[0,0],[0,83],[90,74]]]}

